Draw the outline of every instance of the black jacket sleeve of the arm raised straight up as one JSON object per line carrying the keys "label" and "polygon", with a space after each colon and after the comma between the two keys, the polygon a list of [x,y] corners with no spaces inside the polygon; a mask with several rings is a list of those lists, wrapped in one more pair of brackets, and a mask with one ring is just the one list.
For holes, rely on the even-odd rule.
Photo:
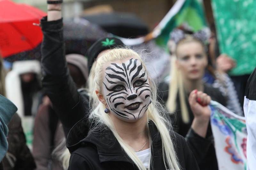
{"label": "black jacket sleeve of the arm raised straight up", "polygon": [[41,20],[44,34],[41,46],[42,85],[51,99],[53,109],[63,124],[67,137],[72,126],[88,113],[88,98],[79,95],[76,85],[69,75],[65,58],[62,19]]}

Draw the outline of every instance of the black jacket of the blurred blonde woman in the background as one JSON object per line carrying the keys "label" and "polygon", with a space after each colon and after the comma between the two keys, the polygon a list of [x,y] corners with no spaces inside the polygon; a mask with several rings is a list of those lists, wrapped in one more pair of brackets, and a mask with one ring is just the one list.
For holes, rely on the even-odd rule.
{"label": "black jacket of the blurred blonde woman in the background", "polygon": [[[166,82],[161,82],[158,87],[158,96],[159,101],[165,102],[168,99],[168,90],[169,84]],[[222,105],[226,105],[226,98],[222,96],[220,91],[216,88],[213,88],[211,85],[204,83],[204,93],[211,96],[212,100],[221,103]],[[188,146],[191,151],[194,153],[196,161],[201,170],[218,170],[218,162],[216,158],[216,153],[214,149],[214,141],[212,136],[211,124],[208,126],[206,138],[202,138],[197,135],[190,127],[192,121],[194,119],[194,115],[192,110],[190,109],[188,103],[188,94],[185,96],[186,105],[188,108],[189,114],[189,122],[184,123],[181,118],[181,107],[180,107],[180,99],[177,94],[177,108],[176,114],[172,114],[172,124],[174,125],[174,131],[179,133],[180,135],[186,137],[188,142]]]}

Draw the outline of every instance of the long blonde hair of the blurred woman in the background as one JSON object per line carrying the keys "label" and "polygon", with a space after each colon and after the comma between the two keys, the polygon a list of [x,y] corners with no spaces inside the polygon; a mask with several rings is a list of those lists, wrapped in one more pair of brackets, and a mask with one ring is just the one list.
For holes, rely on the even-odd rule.
{"label": "long blonde hair of the blurred woman in the background", "polygon": [[182,78],[182,74],[178,70],[176,66],[176,60],[177,60],[177,48],[178,46],[189,43],[189,42],[198,42],[203,47],[204,44],[202,41],[197,39],[194,36],[191,35],[185,35],[185,38],[181,39],[175,47],[175,56],[172,56],[171,58],[171,71],[170,75],[172,80],[169,82],[169,92],[168,92],[168,99],[166,101],[166,108],[169,112],[173,113],[177,109],[177,94],[179,94],[179,100],[180,100],[180,109],[181,109],[181,118],[184,123],[189,122],[189,114],[188,114],[188,108],[186,104],[186,98],[185,98],[185,89],[184,89],[184,82]]}

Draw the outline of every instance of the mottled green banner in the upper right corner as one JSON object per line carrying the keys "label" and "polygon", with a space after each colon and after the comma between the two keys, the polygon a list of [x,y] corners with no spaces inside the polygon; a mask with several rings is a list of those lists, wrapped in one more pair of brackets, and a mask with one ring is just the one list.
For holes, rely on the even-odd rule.
{"label": "mottled green banner in the upper right corner", "polygon": [[236,60],[229,75],[251,74],[256,66],[256,0],[212,0],[221,53]]}

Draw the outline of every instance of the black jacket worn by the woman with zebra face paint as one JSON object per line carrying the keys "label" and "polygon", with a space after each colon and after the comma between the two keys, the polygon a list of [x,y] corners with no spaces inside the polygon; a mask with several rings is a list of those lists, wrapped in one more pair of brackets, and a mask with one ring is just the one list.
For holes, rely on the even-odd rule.
{"label": "black jacket worn by the woman with zebra face paint", "polygon": [[[110,130],[90,132],[87,137],[81,140],[79,138],[74,140],[74,137],[77,136],[77,131],[87,129],[85,122],[86,120],[79,121],[68,134],[67,147],[72,152],[68,170],[137,169],[132,160],[123,152]],[[151,154],[153,162],[151,162],[151,169],[165,170],[160,134],[152,121],[148,122],[148,126],[152,137]],[[185,139],[175,132],[171,135],[171,138],[181,167],[184,170],[199,169]]]}

